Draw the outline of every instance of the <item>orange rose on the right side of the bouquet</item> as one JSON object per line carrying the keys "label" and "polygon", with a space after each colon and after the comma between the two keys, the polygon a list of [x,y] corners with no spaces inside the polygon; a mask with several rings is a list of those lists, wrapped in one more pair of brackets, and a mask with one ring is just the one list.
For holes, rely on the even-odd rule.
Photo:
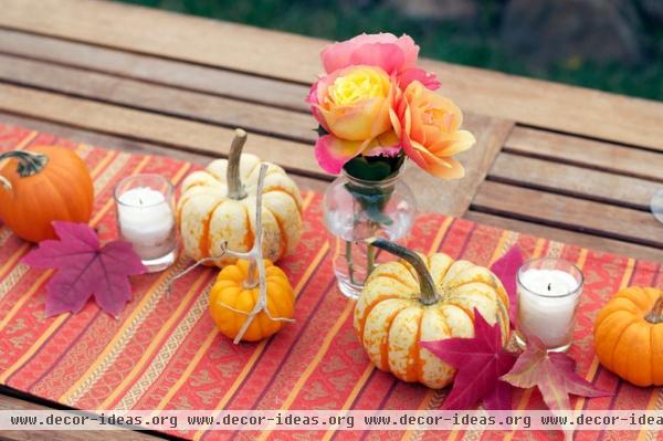
{"label": "orange rose on the right side of the bouquet", "polygon": [[475,139],[459,130],[463,114],[451,99],[414,81],[398,96],[390,118],[403,150],[419,167],[443,179],[465,175],[452,156],[467,150]]}

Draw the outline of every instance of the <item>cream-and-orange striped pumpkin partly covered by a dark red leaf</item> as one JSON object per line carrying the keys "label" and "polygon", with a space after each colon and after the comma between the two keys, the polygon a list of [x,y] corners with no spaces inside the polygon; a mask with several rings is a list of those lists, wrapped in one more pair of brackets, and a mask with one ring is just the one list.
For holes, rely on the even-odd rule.
{"label": "cream-and-orange striped pumpkin partly covered by a dark red leaf", "polygon": [[382,239],[373,246],[401,258],[378,265],[355,307],[355,330],[370,360],[403,381],[449,385],[455,370],[420,342],[474,336],[474,308],[499,323],[508,340],[508,296],[486,267],[446,254],[421,256]]}

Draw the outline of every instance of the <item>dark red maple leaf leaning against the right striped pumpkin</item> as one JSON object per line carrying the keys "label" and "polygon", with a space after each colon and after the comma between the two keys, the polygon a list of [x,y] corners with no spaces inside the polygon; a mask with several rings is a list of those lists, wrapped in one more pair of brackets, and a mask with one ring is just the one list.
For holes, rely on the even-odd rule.
{"label": "dark red maple leaf leaning against the right striped pumpkin", "polygon": [[474,309],[473,338],[421,342],[421,346],[456,369],[443,409],[470,409],[481,399],[487,409],[511,409],[512,387],[499,377],[512,368],[516,356],[502,347],[499,325],[488,325],[478,309]]}

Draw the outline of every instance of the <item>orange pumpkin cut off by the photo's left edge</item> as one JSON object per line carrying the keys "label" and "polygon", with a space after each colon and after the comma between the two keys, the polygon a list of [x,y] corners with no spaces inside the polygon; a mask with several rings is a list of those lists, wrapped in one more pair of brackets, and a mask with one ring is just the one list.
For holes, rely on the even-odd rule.
{"label": "orange pumpkin cut off by the photo's left edge", "polygon": [[87,222],[94,188],[90,171],[74,151],[35,146],[0,155],[0,219],[18,237],[55,239],[53,221]]}

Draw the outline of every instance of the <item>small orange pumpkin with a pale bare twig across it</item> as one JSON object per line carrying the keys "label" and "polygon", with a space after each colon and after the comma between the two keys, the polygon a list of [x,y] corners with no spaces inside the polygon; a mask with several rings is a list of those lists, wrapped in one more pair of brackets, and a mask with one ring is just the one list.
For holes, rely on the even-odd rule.
{"label": "small orange pumpkin with a pale bare twig across it", "polygon": [[259,302],[260,284],[255,269],[245,260],[227,265],[219,272],[210,291],[210,313],[221,334],[230,338],[240,335],[251,319],[241,340],[257,342],[277,333],[284,319],[293,318],[295,293],[285,273],[264,260],[266,306],[254,317],[251,312]]}

